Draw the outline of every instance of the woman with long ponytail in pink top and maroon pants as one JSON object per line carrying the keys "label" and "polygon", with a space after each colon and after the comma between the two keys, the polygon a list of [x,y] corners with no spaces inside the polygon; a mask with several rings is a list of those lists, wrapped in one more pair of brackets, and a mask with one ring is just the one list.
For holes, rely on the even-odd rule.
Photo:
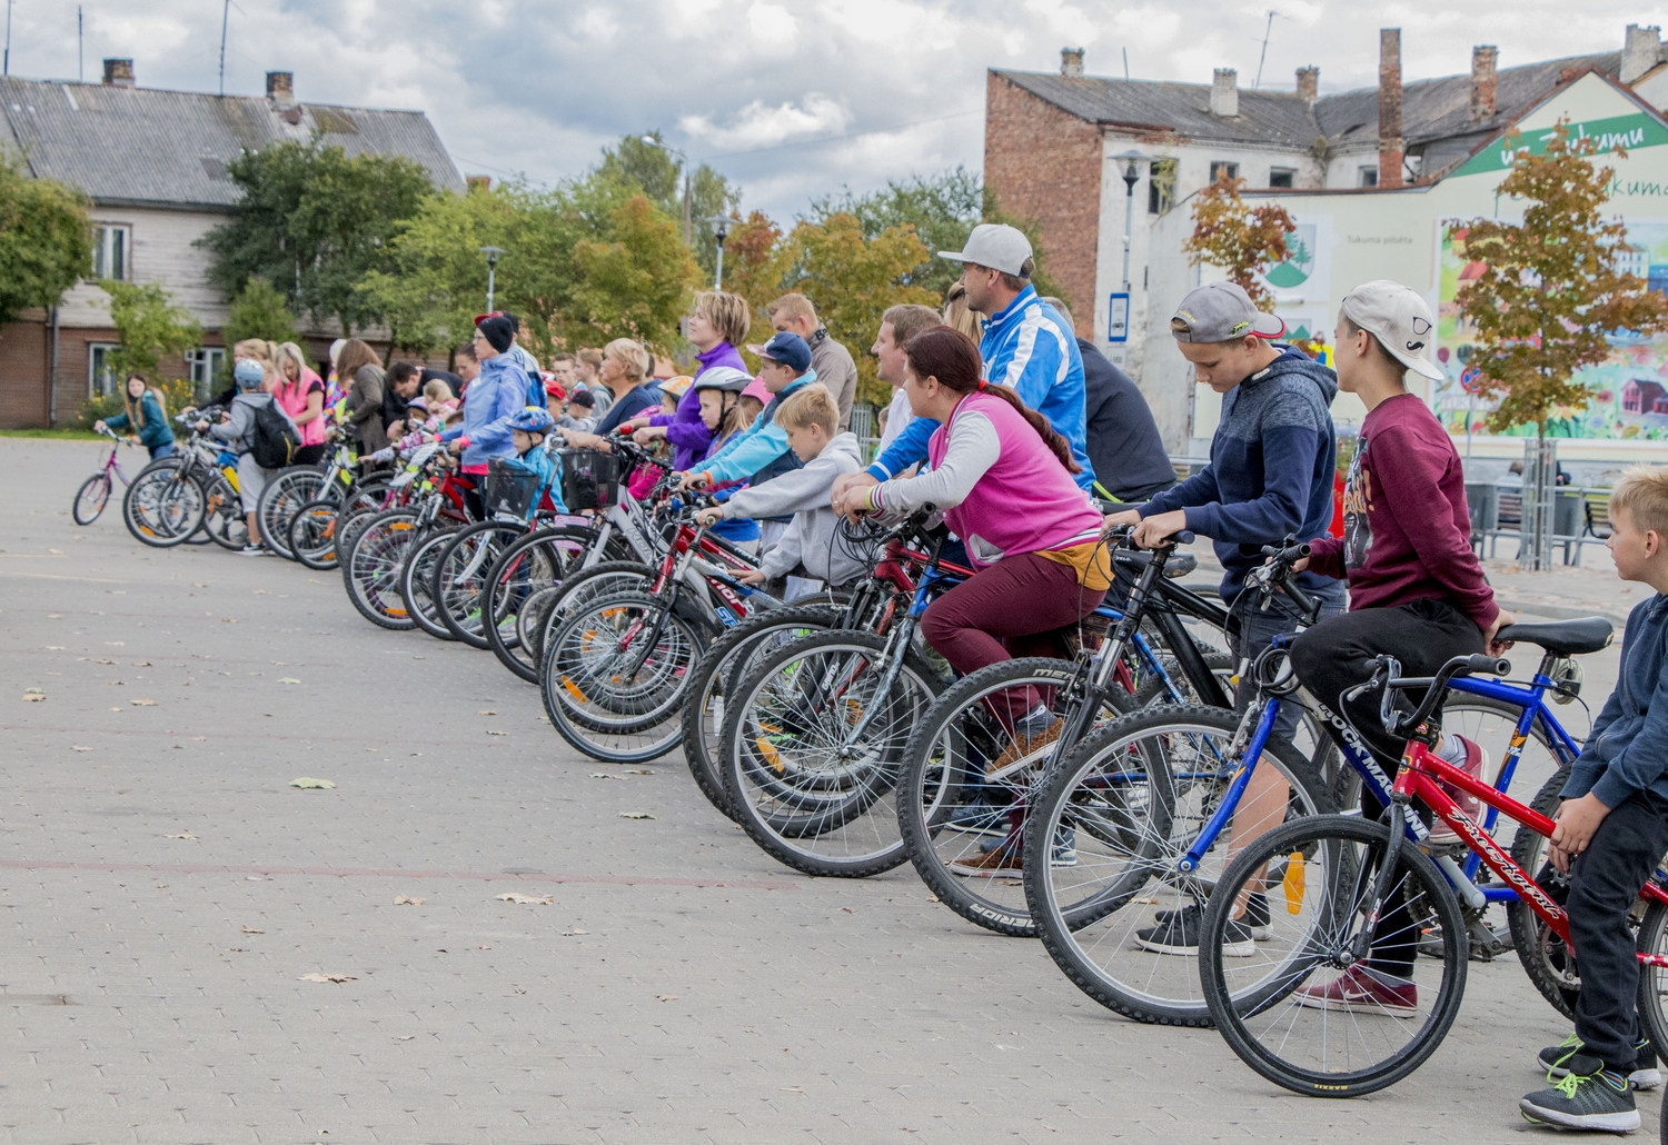
{"label": "woman with long ponytail in pink top and maroon pants", "polygon": [[[869,512],[944,510],[977,570],[932,602],[921,633],[961,673],[1068,655],[1066,632],[1111,583],[1101,513],[1073,478],[1069,443],[1009,387],[979,377],[979,348],[959,330],[924,330],[904,355],[909,408],[939,422],[927,443],[932,468],[856,495]],[[1007,707],[1014,743],[997,765],[1059,738],[1059,720],[1034,688]]]}

